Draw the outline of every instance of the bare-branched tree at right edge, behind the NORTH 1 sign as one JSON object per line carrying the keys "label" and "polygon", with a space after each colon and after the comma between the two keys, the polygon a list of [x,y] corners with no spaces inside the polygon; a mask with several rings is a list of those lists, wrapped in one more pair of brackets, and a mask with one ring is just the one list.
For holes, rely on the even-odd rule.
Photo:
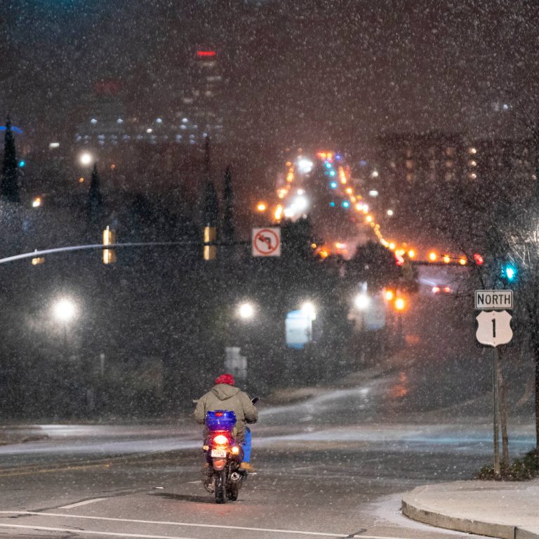
{"label": "bare-branched tree at right edge, behind the NORTH 1 sign", "polygon": [[[488,188],[487,185],[488,184]],[[514,175],[490,175],[484,182],[457,180],[429,197],[430,220],[466,253],[474,271],[461,292],[476,288],[514,290],[514,325],[526,335],[535,366],[535,447],[539,458],[539,208],[532,182]],[[426,201],[425,201],[426,202]],[[450,218],[458,211],[458,218]],[[473,223],[473,226],[470,225]],[[477,264],[474,253],[484,264]],[[507,273],[507,267],[512,274]]]}

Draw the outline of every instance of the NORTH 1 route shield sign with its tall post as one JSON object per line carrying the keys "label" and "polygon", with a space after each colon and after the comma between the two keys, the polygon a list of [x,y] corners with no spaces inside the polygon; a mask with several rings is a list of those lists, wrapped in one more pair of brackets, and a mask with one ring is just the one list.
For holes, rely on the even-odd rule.
{"label": "NORTH 1 route shield sign with its tall post", "polygon": [[[475,308],[480,310],[477,320],[477,340],[485,346],[493,347],[492,355],[492,401],[494,431],[494,473],[500,475],[500,410],[498,371],[501,371],[499,345],[505,345],[513,338],[511,328],[512,316],[508,310],[513,308],[512,290],[477,290],[475,291]],[[488,310],[487,310],[488,309]],[[505,410],[503,411],[505,414]],[[502,436],[507,444],[507,419],[502,415]]]}

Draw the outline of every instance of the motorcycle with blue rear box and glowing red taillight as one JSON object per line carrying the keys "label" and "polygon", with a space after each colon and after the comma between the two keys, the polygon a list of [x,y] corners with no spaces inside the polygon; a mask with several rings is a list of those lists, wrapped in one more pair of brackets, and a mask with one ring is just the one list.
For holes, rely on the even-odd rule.
{"label": "motorcycle with blue rear box and glowing red taillight", "polygon": [[[252,402],[256,404],[258,397]],[[208,492],[215,494],[215,503],[235,502],[247,477],[245,470],[239,467],[244,451],[232,434],[236,414],[229,410],[208,411],[205,423],[208,437],[202,448],[206,453],[209,474],[202,483]]]}

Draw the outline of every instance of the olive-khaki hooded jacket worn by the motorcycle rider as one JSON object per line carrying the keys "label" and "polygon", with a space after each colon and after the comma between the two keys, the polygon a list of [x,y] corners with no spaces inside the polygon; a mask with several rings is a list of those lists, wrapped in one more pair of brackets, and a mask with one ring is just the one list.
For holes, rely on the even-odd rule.
{"label": "olive-khaki hooded jacket worn by the motorcycle rider", "polygon": [[236,414],[234,435],[240,441],[244,439],[245,424],[258,420],[258,411],[248,394],[233,385],[213,386],[198,400],[197,407],[194,408],[194,418],[198,423],[204,424],[206,412],[213,410],[232,410]]}

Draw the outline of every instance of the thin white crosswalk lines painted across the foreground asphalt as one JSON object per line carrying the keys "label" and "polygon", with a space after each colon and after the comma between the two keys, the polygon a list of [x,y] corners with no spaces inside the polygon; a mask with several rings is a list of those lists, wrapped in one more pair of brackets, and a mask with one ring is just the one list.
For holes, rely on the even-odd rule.
{"label": "thin white crosswalk lines painted across the foreground asphalt", "polygon": [[[0,511],[0,514],[34,514],[39,517],[65,517],[68,519],[88,519],[88,520],[100,520],[100,521],[111,521],[111,522],[130,522],[131,524],[160,524],[166,526],[189,526],[192,528],[218,528],[218,529],[227,529],[227,530],[244,530],[244,531],[268,531],[271,533],[288,533],[290,535],[317,535],[321,537],[348,537],[353,538],[355,535],[346,535],[346,533],[323,533],[321,531],[300,531],[300,530],[279,530],[275,528],[246,528],[244,526],[220,526],[218,524],[193,524],[192,522],[174,522],[166,520],[140,520],[140,519],[116,519],[113,517],[89,517],[84,514],[62,514],[62,513],[40,513],[37,511]],[[8,526],[8,524],[0,524],[0,526]],[[25,526],[22,526],[25,527]],[[29,528],[36,528],[36,526],[27,526]],[[65,530],[69,531],[69,530]],[[82,533],[81,530],[78,533]],[[86,532],[86,533],[98,533],[98,532]],[[100,532],[99,532],[100,533]],[[106,535],[106,534],[105,534]],[[112,534],[114,535],[114,534]],[[117,535],[122,535],[121,533]],[[147,537],[147,538],[159,538],[165,537],[165,539],[192,539],[192,538],[172,538],[168,536],[161,535],[129,535],[124,534],[126,537]],[[407,539],[403,537],[392,537],[389,535],[357,535],[361,539]]]}

